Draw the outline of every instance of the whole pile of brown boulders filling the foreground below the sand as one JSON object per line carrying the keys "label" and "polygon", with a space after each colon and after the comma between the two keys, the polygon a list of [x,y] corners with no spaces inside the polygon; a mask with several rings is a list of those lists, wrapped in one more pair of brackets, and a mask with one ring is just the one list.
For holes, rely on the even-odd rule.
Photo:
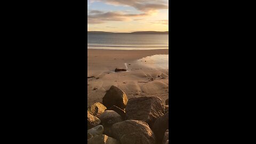
{"label": "whole pile of brown boulders filling the foreground below the sand", "polygon": [[87,142],[106,144],[169,143],[169,99],[127,99],[112,85],[101,102],[87,108]]}

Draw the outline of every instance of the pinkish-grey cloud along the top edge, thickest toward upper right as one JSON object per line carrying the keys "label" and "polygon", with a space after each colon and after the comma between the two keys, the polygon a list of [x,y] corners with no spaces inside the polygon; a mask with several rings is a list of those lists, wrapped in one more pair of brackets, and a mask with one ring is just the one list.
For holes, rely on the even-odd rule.
{"label": "pinkish-grey cloud along the top edge, thickest toward upper right", "polygon": [[142,12],[155,12],[156,10],[169,9],[168,0],[93,0],[91,2],[132,6]]}

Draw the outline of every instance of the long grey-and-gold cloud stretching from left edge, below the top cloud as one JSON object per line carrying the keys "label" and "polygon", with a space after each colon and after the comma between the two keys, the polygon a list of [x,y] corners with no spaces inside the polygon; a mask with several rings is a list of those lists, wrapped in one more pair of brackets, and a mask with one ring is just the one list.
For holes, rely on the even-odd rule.
{"label": "long grey-and-gold cloud stretching from left edge, below the top cloud", "polygon": [[125,14],[123,12],[101,12],[101,11],[97,11],[95,13],[94,10],[92,11],[89,11],[89,13],[87,13],[88,24],[98,24],[98,23],[104,23],[106,21],[129,21],[131,20],[131,18],[134,18],[134,17],[145,17],[148,15],[147,13]]}

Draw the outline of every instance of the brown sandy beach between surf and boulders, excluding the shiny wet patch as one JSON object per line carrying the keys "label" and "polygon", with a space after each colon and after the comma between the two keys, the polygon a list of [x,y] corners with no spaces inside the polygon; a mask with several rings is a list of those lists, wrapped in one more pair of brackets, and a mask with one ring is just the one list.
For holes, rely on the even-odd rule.
{"label": "brown sandy beach between surf and boulders, excluding the shiny wet patch", "polygon": [[[138,59],[155,55],[169,54],[162,50],[96,50],[88,49],[87,100],[88,105],[102,102],[111,85],[123,90],[127,98],[155,96],[165,101],[169,95],[169,69],[151,65],[141,65]],[[115,68],[128,71],[114,73]],[[159,77],[158,77],[159,76]]]}

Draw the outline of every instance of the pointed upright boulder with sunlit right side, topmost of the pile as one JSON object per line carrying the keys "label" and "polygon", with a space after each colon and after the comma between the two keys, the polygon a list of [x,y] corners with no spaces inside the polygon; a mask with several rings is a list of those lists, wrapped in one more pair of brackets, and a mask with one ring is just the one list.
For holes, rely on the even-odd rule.
{"label": "pointed upright boulder with sunlit right side, topmost of the pile", "polygon": [[126,97],[126,94],[114,85],[110,87],[110,89],[102,98],[102,103],[107,108],[115,105],[121,109],[124,109],[126,107],[127,101],[128,99]]}

